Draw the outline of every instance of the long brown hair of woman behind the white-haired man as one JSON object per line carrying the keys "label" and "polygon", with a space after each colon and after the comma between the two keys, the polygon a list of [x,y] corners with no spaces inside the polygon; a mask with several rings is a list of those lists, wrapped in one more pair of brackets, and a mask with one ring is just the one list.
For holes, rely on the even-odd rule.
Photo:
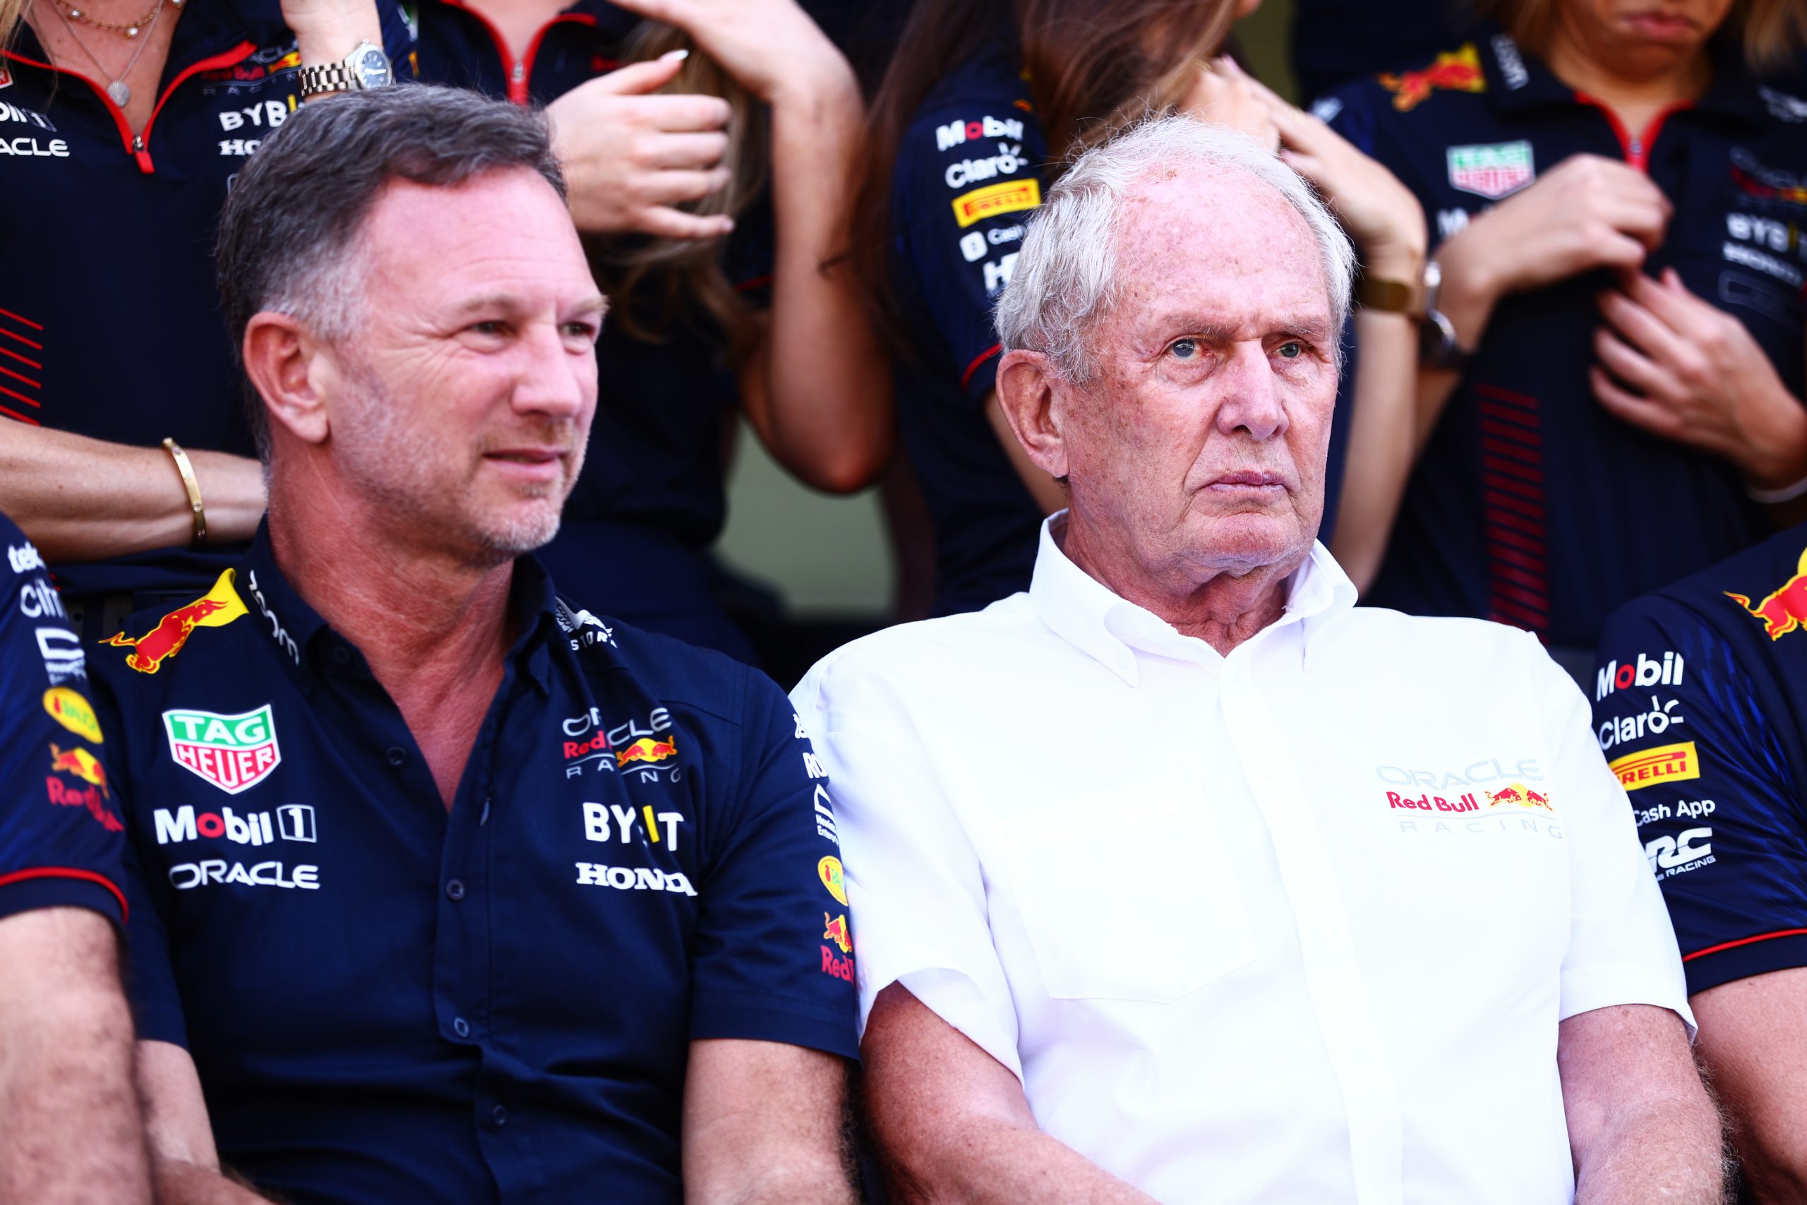
{"label": "long brown hair of woman behind the white-haired man", "polygon": [[889,271],[898,146],[952,69],[997,33],[1014,33],[1059,173],[1120,125],[1178,105],[1234,20],[1234,0],[918,0],[866,119],[853,210],[849,255],[882,329],[898,332]]}

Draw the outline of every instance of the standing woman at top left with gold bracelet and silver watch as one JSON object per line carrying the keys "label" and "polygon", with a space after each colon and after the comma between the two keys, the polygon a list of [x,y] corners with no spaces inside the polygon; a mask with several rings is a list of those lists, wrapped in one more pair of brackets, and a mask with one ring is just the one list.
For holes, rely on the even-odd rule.
{"label": "standing woman at top left with gold bracelet and silver watch", "polygon": [[0,508],[89,638],[257,528],[215,220],[305,69],[378,85],[408,45],[390,0],[0,5]]}

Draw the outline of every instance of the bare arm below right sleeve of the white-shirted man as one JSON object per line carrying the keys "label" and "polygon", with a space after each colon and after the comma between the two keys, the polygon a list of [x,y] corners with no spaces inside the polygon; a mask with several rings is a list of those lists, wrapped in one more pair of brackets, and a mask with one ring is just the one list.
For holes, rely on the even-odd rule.
{"label": "bare arm below right sleeve of the white-shirted man", "polygon": [[1561,1024],[1576,1205],[1720,1205],[1718,1115],[1681,1017],[1650,1004],[1596,1008]]}

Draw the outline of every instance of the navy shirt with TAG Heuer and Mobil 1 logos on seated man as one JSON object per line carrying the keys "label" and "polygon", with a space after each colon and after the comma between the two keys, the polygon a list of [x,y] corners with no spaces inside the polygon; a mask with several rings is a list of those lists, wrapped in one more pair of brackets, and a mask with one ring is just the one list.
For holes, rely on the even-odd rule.
{"label": "navy shirt with TAG Heuer and Mobil 1 logos on seated man", "polygon": [[692,1041],[857,1053],[833,800],[782,692],[533,558],[511,616],[450,811],[267,535],[90,656],[139,1033],[188,1048],[220,1156],[282,1200],[676,1203]]}

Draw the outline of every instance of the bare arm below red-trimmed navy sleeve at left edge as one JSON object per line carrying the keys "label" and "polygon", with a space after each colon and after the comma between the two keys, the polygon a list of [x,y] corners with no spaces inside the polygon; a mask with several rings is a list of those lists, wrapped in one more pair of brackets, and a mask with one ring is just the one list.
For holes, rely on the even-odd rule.
{"label": "bare arm below red-trimmed navy sleeve at left edge", "polygon": [[150,1201],[117,959],[87,909],[0,921],[0,1201]]}

